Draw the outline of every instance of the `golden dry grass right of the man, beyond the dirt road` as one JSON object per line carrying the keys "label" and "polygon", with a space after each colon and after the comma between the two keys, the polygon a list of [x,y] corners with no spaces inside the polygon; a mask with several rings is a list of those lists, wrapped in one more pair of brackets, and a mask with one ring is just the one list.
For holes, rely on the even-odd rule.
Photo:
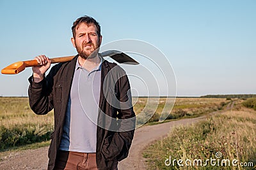
{"label": "golden dry grass right of the man, beyond the dirt road", "polygon": [[174,106],[173,103],[174,99],[138,98],[137,103],[134,105],[137,125],[145,122],[158,122],[161,114],[169,120],[200,117],[207,113],[221,110],[230,101],[220,98],[177,98]]}

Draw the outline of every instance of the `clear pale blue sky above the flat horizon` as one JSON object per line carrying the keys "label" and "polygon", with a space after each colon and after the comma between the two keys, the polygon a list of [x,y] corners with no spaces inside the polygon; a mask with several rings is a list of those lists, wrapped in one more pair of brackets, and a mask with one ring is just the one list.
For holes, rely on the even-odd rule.
{"label": "clear pale blue sky above the flat horizon", "polygon": [[[135,95],[148,94],[138,83],[140,78],[141,82],[147,81],[148,87],[152,86],[150,95],[160,90],[164,96],[166,89],[168,95],[177,96],[255,94],[255,9],[256,1],[236,0],[1,0],[0,67],[40,54],[50,58],[76,55],[70,42],[72,23],[89,15],[100,23],[103,46],[133,39],[151,45],[165,57],[156,55],[150,61],[161,66],[167,85],[161,78],[157,80],[161,73],[145,57],[132,55],[141,63],[127,68]],[[140,78],[129,73],[129,69],[140,72],[143,68],[147,71],[141,71]],[[1,74],[0,96],[28,96],[31,74],[31,68],[15,75]],[[156,87],[153,80],[158,83]]]}

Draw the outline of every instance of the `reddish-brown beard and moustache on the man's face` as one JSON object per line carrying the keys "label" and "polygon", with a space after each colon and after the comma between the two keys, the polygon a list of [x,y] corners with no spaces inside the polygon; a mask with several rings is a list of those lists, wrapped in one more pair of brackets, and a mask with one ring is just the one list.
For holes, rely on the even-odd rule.
{"label": "reddish-brown beard and moustache on the man's face", "polygon": [[[76,42],[75,42],[75,44],[76,44]],[[86,46],[86,45],[93,46],[93,49],[94,49],[93,52],[83,50],[83,46]],[[97,45],[94,45],[93,43],[84,43],[83,46],[80,47],[80,46],[76,45],[77,53],[83,59],[93,59],[99,53],[99,50],[100,50],[100,48],[99,48],[100,47],[99,41],[97,42]]]}

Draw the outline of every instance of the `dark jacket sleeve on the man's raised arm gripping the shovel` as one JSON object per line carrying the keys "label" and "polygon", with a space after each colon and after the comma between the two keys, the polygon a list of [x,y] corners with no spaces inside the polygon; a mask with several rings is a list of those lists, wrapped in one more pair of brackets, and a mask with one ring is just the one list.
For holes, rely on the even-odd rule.
{"label": "dark jacket sleeve on the man's raised arm gripping the shovel", "polygon": [[38,83],[33,81],[33,76],[28,79],[29,105],[31,110],[37,115],[45,115],[53,108],[52,87],[54,83],[53,76],[56,74],[56,69],[58,69],[58,65],[52,67],[44,80]]}

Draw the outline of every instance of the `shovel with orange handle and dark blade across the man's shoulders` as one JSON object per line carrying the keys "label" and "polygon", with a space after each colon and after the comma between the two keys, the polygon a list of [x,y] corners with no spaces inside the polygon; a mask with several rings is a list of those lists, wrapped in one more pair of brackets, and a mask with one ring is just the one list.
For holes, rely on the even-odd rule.
{"label": "shovel with orange handle and dark blade across the man's shoulders", "polygon": [[[137,65],[140,64],[136,60],[132,59],[129,57],[129,55],[117,51],[117,50],[108,50],[106,52],[99,53],[102,57],[111,57],[111,59],[116,60],[116,62],[122,64],[131,64],[131,65]],[[72,60],[75,57],[73,56],[67,56],[67,57],[56,57],[52,58],[51,63],[58,63],[58,62],[68,62]],[[36,60],[26,60],[26,61],[19,61],[11,64],[10,66],[5,67],[4,69],[1,70],[2,74],[18,74],[21,71],[23,71],[26,67],[32,67],[32,66],[40,66]]]}

